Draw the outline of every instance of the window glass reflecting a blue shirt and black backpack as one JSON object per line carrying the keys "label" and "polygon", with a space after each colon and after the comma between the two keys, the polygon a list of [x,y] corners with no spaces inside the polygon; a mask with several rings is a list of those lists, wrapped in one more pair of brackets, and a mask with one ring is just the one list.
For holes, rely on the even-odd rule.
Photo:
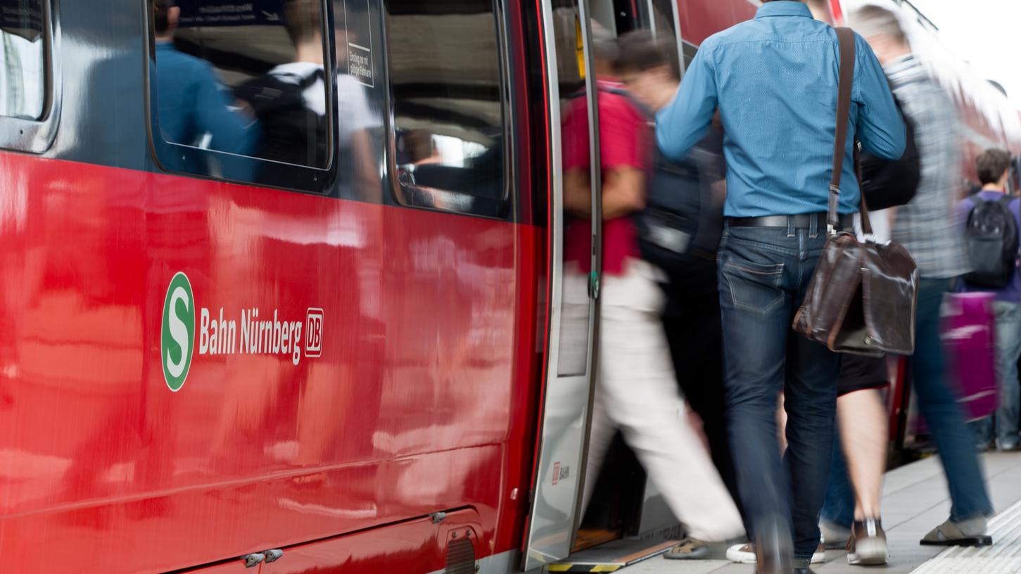
{"label": "window glass reflecting a blue shirt and black backpack", "polygon": [[323,0],[151,1],[164,140],[328,165]]}

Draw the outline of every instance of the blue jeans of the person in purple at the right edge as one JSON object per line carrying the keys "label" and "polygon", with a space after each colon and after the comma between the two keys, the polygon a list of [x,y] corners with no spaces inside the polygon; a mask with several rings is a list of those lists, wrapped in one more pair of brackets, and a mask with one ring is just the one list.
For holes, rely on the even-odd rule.
{"label": "blue jeans of the person in purple at the right edge", "polygon": [[[996,445],[1011,448],[1018,443],[1018,357],[1021,356],[1021,304],[996,301]],[[988,418],[972,423],[980,443],[992,437]]]}

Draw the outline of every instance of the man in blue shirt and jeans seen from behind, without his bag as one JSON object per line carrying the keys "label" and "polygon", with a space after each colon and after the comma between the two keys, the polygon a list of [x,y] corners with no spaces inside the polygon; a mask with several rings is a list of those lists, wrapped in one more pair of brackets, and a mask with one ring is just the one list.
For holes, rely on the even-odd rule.
{"label": "man in blue shirt and jeans seen from behind, without his bag", "polygon": [[[875,55],[856,36],[841,227],[859,189],[857,137],[875,155],[904,152],[904,121]],[[702,43],[657,117],[663,152],[681,158],[719,108],[727,218],[719,252],[729,434],[760,572],[809,572],[829,473],[839,358],[790,333],[826,240],[839,45],[804,2],[772,0],[755,19]],[[790,483],[776,442],[785,393]],[[793,532],[793,563],[791,563]]]}

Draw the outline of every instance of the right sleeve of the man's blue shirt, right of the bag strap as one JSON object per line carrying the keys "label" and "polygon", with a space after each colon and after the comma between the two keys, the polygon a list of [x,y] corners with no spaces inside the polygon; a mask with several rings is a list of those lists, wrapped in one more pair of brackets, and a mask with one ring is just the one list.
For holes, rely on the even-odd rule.
{"label": "right sleeve of the man's blue shirt, right of the bag strap", "polygon": [[858,103],[857,135],[865,149],[884,159],[900,159],[907,145],[907,128],[890,93],[886,75],[875,53],[861,36],[858,45],[855,95]]}

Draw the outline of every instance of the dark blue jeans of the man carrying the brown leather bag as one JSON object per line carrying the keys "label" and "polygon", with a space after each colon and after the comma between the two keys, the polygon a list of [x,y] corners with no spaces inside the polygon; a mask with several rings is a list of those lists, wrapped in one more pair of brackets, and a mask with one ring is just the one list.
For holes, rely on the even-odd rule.
{"label": "dark blue jeans of the man carrying the brown leather bag", "polygon": [[[839,356],[790,329],[826,240],[822,230],[725,228],[719,252],[728,434],[752,529],[791,530],[795,565],[819,544]],[[781,463],[776,406],[784,392]]]}

